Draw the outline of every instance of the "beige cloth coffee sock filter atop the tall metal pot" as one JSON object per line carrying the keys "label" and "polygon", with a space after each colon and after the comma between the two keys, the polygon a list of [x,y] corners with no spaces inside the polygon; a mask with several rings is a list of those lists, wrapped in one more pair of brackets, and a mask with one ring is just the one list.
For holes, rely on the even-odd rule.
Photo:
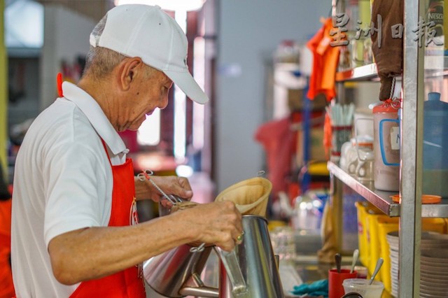
{"label": "beige cloth coffee sock filter atop the tall metal pot", "polygon": [[215,201],[233,201],[241,214],[265,217],[271,190],[272,183],[269,180],[255,177],[231,185],[218,194]]}

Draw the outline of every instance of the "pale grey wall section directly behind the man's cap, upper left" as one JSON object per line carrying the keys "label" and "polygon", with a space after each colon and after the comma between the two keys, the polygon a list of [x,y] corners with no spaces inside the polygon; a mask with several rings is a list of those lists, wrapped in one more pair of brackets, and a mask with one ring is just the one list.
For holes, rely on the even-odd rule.
{"label": "pale grey wall section directly behind the man's cap, upper left", "polygon": [[61,62],[73,63],[89,50],[89,36],[97,22],[66,9],[45,5],[44,40],[41,56],[41,110],[57,96],[56,76]]}

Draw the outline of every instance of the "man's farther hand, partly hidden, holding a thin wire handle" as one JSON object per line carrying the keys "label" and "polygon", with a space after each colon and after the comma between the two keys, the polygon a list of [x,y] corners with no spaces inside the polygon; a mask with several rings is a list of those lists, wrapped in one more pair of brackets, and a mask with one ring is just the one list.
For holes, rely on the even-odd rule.
{"label": "man's farther hand, partly hidden, holding a thin wire handle", "polygon": [[[193,191],[191,190],[190,183],[187,178],[177,177],[177,176],[151,176],[151,180],[154,181],[160,189],[165,192],[165,194],[173,194],[181,199],[186,199],[190,201],[193,197]],[[150,181],[146,181],[148,187],[150,187],[151,195],[150,198],[153,201],[162,201],[162,204],[167,204],[166,200],[163,200],[163,194],[154,187]]]}

